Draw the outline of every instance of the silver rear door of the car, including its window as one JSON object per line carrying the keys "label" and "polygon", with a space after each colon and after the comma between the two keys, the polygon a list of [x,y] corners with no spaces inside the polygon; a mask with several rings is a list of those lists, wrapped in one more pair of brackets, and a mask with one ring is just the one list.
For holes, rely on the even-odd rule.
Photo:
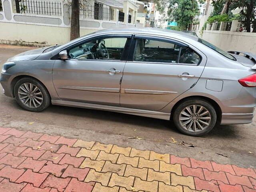
{"label": "silver rear door of the car, including its window", "polygon": [[206,56],[169,38],[135,35],[122,78],[122,107],[161,110],[200,78]]}

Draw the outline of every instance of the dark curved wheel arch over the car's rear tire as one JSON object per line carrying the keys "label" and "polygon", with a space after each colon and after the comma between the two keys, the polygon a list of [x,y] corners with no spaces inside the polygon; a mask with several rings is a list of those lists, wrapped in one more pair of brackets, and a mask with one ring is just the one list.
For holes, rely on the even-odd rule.
{"label": "dark curved wheel arch over the car's rear tire", "polygon": [[212,106],[214,107],[216,114],[217,114],[217,123],[221,122],[221,118],[222,118],[222,110],[220,108],[220,106],[218,105],[218,103],[216,101],[214,101],[211,98],[208,98],[206,96],[187,96],[185,98],[180,99],[178,102],[176,102],[176,104],[174,104],[174,106],[172,107],[171,110],[171,117],[172,114],[174,113],[174,111],[176,110],[176,108],[184,101],[186,100],[190,100],[190,99],[199,99],[199,100],[206,100],[207,102],[209,102],[210,104],[212,104]]}

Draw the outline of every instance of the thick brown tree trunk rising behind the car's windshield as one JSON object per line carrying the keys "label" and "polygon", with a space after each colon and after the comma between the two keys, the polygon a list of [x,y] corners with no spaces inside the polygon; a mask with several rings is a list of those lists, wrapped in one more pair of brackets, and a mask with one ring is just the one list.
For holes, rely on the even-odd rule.
{"label": "thick brown tree trunk rising behind the car's windshield", "polygon": [[70,26],[70,40],[80,37],[79,24],[79,0],[72,0],[71,3],[71,26]]}

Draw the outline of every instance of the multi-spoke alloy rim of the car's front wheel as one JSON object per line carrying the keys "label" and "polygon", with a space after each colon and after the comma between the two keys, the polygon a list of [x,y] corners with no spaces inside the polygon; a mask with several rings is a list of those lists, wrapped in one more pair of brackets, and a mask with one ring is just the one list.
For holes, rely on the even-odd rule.
{"label": "multi-spoke alloy rim of the car's front wheel", "polygon": [[32,83],[24,83],[18,89],[20,101],[30,108],[37,108],[43,102],[41,90]]}

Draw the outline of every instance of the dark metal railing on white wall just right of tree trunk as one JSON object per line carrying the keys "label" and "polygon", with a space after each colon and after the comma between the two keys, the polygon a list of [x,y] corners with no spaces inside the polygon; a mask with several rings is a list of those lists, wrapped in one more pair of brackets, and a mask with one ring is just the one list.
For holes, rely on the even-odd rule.
{"label": "dark metal railing on white wall just right of tree trunk", "polygon": [[80,8],[80,16],[82,18],[112,21],[114,20],[114,9],[95,1],[94,5],[83,5]]}

